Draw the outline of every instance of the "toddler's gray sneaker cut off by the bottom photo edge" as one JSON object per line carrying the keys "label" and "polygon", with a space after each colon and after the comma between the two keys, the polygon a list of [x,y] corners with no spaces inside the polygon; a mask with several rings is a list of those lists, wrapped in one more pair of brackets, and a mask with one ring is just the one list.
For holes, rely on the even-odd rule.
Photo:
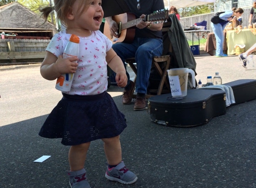
{"label": "toddler's gray sneaker cut off by the bottom photo edge", "polygon": [[84,168],[79,171],[69,171],[67,175],[69,176],[69,185],[71,188],[91,188],[86,179],[86,171]]}

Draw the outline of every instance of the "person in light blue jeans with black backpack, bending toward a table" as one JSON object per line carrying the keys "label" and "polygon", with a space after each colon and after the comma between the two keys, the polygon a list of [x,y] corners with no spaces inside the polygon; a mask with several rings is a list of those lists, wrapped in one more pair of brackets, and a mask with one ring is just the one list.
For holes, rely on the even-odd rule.
{"label": "person in light blue jeans with black backpack, bending toward a table", "polygon": [[232,20],[232,16],[240,17],[243,14],[242,8],[232,8],[219,15],[219,21],[217,24],[211,22],[214,35],[216,37],[216,57],[227,57],[227,54],[223,53],[224,33],[226,25]]}

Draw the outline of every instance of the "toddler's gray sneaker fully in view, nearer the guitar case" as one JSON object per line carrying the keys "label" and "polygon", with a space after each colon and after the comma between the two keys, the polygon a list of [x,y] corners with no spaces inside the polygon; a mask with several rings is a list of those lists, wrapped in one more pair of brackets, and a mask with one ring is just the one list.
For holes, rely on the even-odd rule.
{"label": "toddler's gray sneaker fully in view, nearer the guitar case", "polygon": [[117,181],[121,184],[133,184],[138,179],[138,177],[133,172],[130,172],[126,168],[123,161],[116,167],[107,167],[105,177],[111,181]]}

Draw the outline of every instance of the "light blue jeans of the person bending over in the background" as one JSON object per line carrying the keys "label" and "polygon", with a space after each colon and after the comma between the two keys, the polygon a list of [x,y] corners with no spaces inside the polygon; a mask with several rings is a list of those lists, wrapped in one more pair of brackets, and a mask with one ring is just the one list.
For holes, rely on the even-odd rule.
{"label": "light blue jeans of the person bending over in the background", "polygon": [[223,30],[225,29],[227,24],[221,25],[221,24],[213,24],[211,22],[211,27],[213,29],[215,38],[216,38],[216,56],[223,56],[223,44],[224,44],[224,34]]}

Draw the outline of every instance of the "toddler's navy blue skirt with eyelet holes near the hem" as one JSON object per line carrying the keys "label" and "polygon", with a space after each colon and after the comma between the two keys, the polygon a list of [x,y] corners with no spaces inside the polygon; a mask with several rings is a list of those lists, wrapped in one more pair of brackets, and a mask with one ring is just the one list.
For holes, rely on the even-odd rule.
{"label": "toddler's navy blue skirt with eyelet holes near the hem", "polygon": [[125,116],[104,92],[81,96],[63,94],[39,132],[44,138],[62,138],[67,146],[118,136],[126,128]]}

